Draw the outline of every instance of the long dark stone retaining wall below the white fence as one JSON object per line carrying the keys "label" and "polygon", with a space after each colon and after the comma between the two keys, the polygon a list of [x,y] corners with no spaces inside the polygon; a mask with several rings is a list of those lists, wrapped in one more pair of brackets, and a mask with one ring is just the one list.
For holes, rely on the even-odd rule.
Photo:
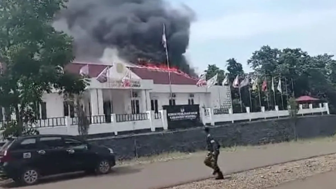
{"label": "long dark stone retaining wall below the white fence", "polygon": [[[295,130],[299,138],[330,136],[336,131],[335,123],[336,115],[300,117]],[[211,133],[222,147],[228,147],[293,140],[295,130],[294,121],[283,118],[213,126]],[[93,139],[92,142],[111,147],[119,159],[130,159],[169,151],[205,149],[205,134],[202,128],[195,128]]]}

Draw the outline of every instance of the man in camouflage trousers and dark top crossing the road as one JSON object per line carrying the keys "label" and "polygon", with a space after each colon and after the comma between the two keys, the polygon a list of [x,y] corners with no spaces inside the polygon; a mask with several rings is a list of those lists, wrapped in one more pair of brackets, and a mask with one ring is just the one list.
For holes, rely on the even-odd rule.
{"label": "man in camouflage trousers and dark top crossing the road", "polygon": [[208,151],[206,158],[204,160],[204,164],[213,169],[212,174],[217,174],[216,180],[224,179],[223,172],[219,168],[217,161],[219,156],[219,149],[221,148],[220,144],[217,140],[215,140],[211,134],[210,129],[208,127],[204,128],[206,134],[206,149]]}

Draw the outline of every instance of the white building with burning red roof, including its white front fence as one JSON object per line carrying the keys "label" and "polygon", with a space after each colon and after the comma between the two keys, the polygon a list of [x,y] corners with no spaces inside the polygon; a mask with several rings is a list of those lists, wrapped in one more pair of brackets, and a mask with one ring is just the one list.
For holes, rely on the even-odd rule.
{"label": "white building with burning red roof, including its white front fence", "polygon": [[[256,113],[250,113],[246,107],[247,113],[233,114],[229,111],[231,99],[228,87],[197,87],[197,79],[177,70],[170,71],[169,85],[165,68],[125,66],[120,63],[71,63],[65,69],[74,74],[84,70],[90,77],[90,85],[83,97],[84,108],[91,119],[89,134],[167,130],[167,113],[162,106],[169,104],[198,104],[202,122],[211,125],[216,122],[288,116],[288,111],[279,111],[278,107],[275,111],[267,112],[261,107],[261,112]],[[104,70],[106,76],[99,76]],[[123,86],[122,78],[125,75],[131,80],[131,87]],[[45,94],[42,101],[40,120],[34,124],[41,134],[78,134],[76,113],[71,103],[58,93]],[[220,104],[225,108],[219,109]],[[309,105],[309,109],[303,109],[300,106],[299,114],[312,113],[329,114],[328,103],[320,104],[319,108]]]}

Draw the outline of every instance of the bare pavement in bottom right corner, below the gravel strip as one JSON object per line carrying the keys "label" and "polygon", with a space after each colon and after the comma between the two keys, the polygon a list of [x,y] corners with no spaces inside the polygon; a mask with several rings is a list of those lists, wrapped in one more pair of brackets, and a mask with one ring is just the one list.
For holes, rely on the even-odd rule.
{"label": "bare pavement in bottom right corner, below the gravel strip", "polygon": [[317,174],[306,179],[282,184],[271,189],[335,189],[336,171]]}

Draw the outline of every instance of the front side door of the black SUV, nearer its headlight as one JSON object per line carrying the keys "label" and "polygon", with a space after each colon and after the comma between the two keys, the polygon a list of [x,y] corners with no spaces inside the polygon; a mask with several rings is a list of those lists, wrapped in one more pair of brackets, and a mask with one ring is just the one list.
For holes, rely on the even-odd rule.
{"label": "front side door of the black SUV, nearer its headlight", "polygon": [[75,137],[63,137],[70,162],[75,170],[86,170],[92,168],[96,154],[91,151],[88,144]]}

